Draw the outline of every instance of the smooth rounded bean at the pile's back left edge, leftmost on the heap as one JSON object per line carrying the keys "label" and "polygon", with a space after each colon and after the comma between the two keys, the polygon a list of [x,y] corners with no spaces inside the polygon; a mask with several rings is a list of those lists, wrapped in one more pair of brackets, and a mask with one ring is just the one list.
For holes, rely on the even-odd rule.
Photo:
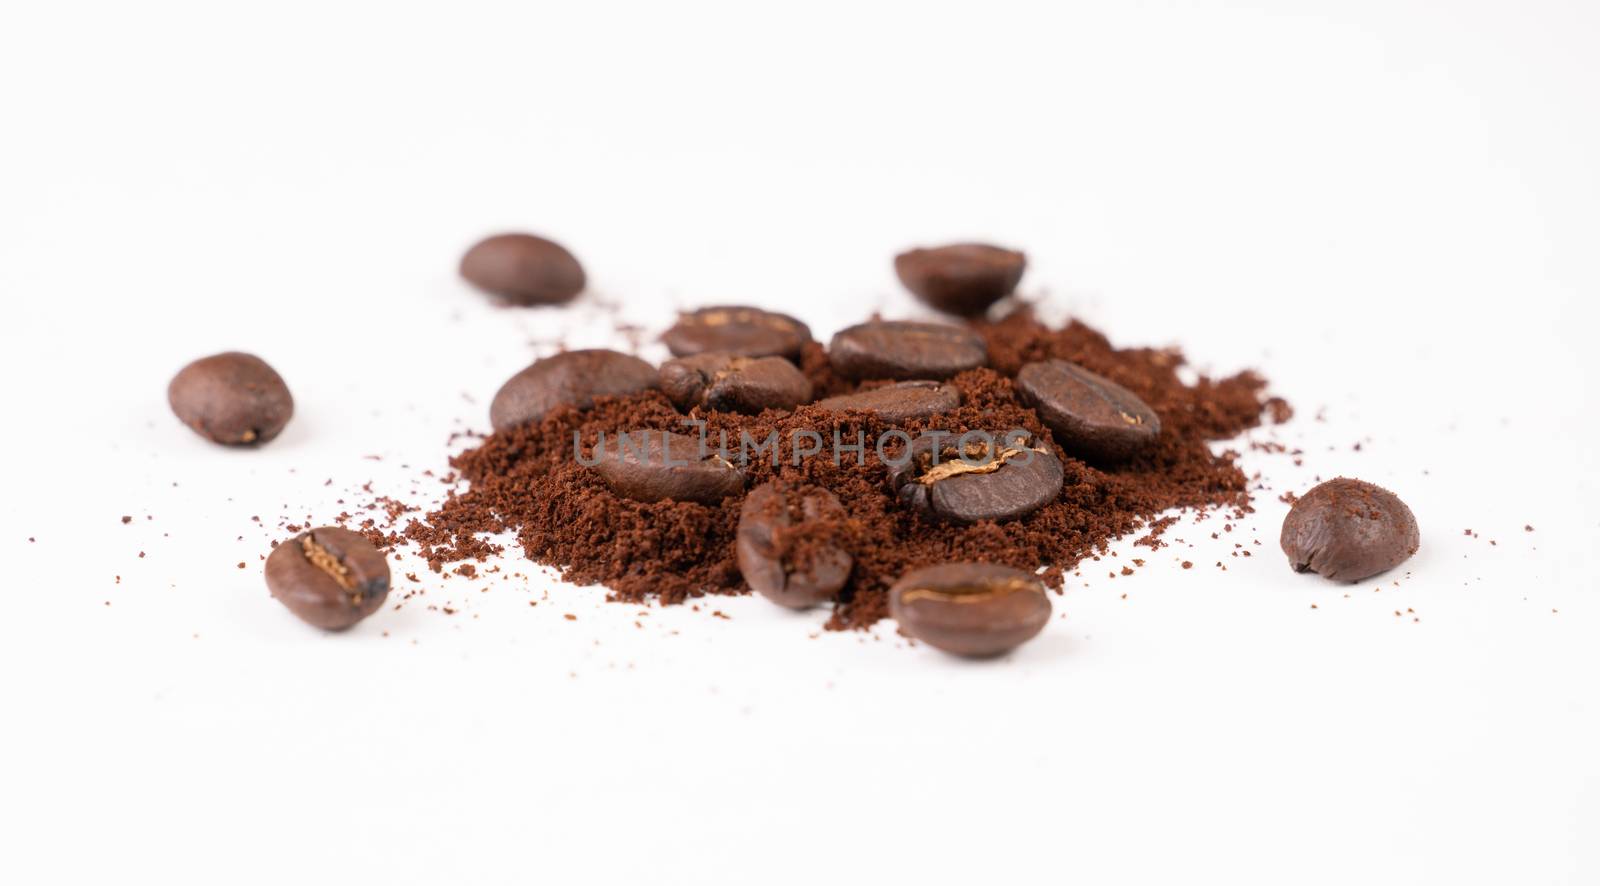
{"label": "smooth rounded bean at the pile's back left edge, leftmost on the heap", "polygon": [[557,406],[587,409],[595,397],[626,397],[656,387],[656,369],[616,350],[568,350],[512,376],[490,403],[490,424],[531,424]]}

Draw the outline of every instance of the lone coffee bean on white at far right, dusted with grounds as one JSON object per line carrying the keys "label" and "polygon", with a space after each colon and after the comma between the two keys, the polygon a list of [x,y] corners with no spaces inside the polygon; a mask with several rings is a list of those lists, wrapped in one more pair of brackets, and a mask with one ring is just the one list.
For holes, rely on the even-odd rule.
{"label": "lone coffee bean on white at far right, dusted with grounds", "polygon": [[1358,582],[1405,563],[1419,536],[1416,517],[1394,493],[1341,477],[1294,502],[1278,544],[1296,573]]}

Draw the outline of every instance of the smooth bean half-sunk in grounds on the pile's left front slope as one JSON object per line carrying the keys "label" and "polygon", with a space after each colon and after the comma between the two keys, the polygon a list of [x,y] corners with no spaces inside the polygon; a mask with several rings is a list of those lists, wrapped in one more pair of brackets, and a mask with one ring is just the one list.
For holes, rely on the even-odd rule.
{"label": "smooth bean half-sunk in grounds on the pile's left front slope", "polygon": [[717,504],[744,491],[744,473],[699,437],[666,430],[606,435],[595,470],[613,493],[640,501]]}

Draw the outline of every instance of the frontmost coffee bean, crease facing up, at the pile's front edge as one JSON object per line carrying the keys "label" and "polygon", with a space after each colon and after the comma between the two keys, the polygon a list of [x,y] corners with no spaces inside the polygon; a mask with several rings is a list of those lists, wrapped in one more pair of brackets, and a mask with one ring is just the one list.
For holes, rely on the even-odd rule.
{"label": "frontmost coffee bean, crease facing up, at the pile's front edge", "polygon": [[1050,597],[1037,576],[1021,569],[946,563],[894,582],[890,616],[936,649],[984,659],[1037,637],[1050,621]]}

